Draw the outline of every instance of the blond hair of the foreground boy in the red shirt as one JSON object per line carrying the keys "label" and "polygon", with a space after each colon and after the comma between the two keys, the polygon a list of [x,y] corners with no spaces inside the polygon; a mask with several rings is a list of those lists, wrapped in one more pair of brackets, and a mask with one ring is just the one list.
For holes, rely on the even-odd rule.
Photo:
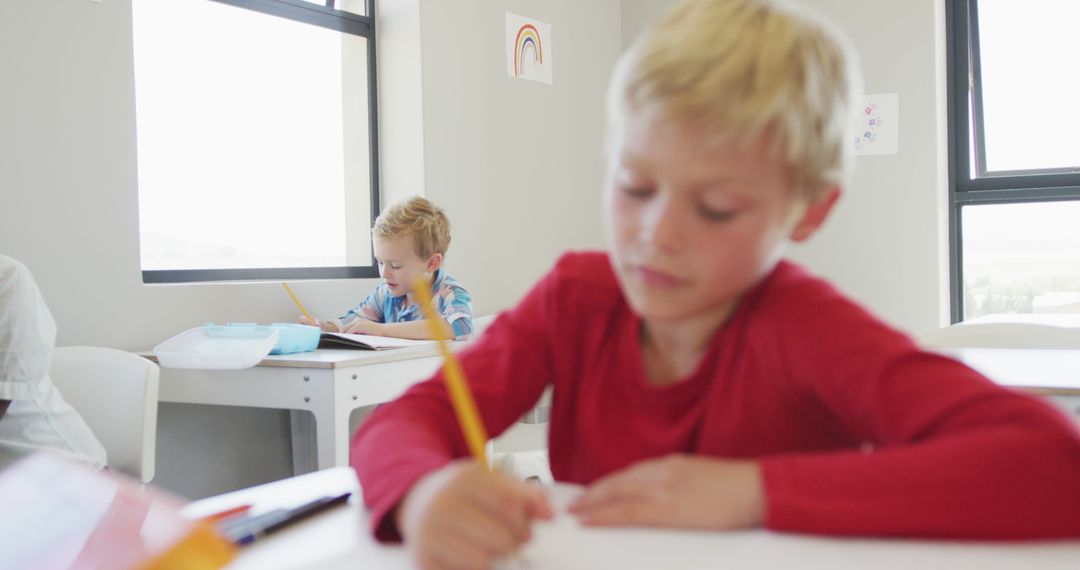
{"label": "blond hair of the foreground boy in the red shirt", "polygon": [[849,175],[860,89],[853,51],[820,18],[778,0],[685,0],[620,58],[608,131],[648,112],[716,141],[769,136],[812,200]]}

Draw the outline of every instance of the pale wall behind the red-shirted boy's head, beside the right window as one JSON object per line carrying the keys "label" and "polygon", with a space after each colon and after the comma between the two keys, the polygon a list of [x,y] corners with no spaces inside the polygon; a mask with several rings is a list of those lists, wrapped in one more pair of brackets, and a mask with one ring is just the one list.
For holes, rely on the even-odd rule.
{"label": "pale wall behind the red-shirted boy's head, beside the right window", "polygon": [[[948,322],[942,0],[800,0],[851,39],[867,93],[900,95],[900,152],[859,157],[832,218],[791,257],[908,331]],[[623,42],[674,0],[623,0]]]}

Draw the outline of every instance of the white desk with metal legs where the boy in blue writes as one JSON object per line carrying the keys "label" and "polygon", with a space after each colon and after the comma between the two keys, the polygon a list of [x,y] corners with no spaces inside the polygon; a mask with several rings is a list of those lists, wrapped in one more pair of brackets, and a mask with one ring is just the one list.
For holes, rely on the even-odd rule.
{"label": "white desk with metal legs where the boy in blue writes", "polygon": [[[268,356],[240,370],[162,368],[159,399],[310,411],[312,416],[293,413],[294,467],[305,473],[312,466],[348,465],[352,410],[397,397],[441,365],[435,344],[386,351],[320,349]],[[314,453],[308,445],[310,418]]]}

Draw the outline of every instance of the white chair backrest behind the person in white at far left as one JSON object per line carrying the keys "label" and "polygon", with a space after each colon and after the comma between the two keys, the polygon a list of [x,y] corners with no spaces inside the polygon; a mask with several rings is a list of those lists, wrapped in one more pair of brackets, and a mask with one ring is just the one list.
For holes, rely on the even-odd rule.
{"label": "white chair backrest behind the person in white at far left", "polygon": [[158,437],[158,365],[100,347],[58,347],[50,377],[105,446],[109,469],[153,478]]}

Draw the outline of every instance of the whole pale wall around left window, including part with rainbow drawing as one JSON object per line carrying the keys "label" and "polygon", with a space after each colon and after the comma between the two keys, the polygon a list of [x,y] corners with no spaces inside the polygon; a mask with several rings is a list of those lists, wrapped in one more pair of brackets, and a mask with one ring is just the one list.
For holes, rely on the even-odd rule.
{"label": "whole pale wall around left window, including part with rainbow drawing", "polygon": [[[383,195],[445,206],[449,271],[477,313],[507,308],[559,252],[600,245],[600,109],[619,3],[383,4]],[[507,11],[552,25],[552,85],[507,77]],[[276,283],[141,284],[130,0],[3,0],[0,77],[0,253],[33,271],[59,344],[145,350],[207,321],[295,317]],[[336,315],[375,284],[294,290]],[[159,434],[156,483],[183,494],[270,480],[292,464],[284,412],[163,405]]]}

